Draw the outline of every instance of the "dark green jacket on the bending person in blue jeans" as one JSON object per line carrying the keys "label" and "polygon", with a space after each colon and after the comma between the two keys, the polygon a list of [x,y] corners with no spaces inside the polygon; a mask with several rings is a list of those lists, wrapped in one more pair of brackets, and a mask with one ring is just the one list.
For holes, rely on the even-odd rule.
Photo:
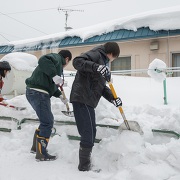
{"label": "dark green jacket on the bending person in blue jeans", "polygon": [[55,94],[58,88],[52,78],[56,75],[62,75],[63,65],[65,64],[65,59],[61,54],[51,53],[40,57],[38,66],[31,77],[25,81],[27,87],[42,89],[48,92],[50,96],[59,96],[60,94]]}

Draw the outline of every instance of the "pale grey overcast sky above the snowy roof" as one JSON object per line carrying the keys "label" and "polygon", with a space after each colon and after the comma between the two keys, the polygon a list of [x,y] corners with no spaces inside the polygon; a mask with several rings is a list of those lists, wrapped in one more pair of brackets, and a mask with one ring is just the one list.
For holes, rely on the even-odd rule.
{"label": "pale grey overcast sky above the snowy roof", "polygon": [[[179,0],[0,0],[0,43],[40,37],[180,5]],[[72,10],[70,12],[70,10]]]}

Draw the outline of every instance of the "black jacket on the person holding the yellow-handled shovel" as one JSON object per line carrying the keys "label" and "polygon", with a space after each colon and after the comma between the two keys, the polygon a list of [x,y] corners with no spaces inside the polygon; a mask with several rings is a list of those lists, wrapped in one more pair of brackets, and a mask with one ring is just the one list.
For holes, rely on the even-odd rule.
{"label": "black jacket on the person holding the yellow-handled shovel", "polygon": [[73,66],[78,71],[72,85],[70,102],[85,103],[93,108],[97,106],[106,80],[95,70],[96,64],[103,65],[108,62],[103,46],[98,46],[73,60]]}

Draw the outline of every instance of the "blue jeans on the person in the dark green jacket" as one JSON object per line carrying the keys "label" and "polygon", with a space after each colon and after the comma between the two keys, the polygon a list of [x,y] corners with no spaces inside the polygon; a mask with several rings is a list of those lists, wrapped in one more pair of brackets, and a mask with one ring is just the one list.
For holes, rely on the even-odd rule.
{"label": "blue jeans on the person in the dark green jacket", "polygon": [[36,111],[39,118],[39,135],[49,138],[54,124],[54,117],[51,112],[51,101],[49,94],[33,89],[26,89],[26,98]]}

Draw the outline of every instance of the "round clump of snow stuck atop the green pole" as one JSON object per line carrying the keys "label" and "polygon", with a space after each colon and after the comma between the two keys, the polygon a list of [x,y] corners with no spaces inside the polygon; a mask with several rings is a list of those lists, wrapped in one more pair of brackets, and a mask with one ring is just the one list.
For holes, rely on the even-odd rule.
{"label": "round clump of snow stuck atop the green pole", "polygon": [[166,79],[165,74],[166,63],[160,59],[154,59],[148,68],[148,75],[152,77],[157,82],[162,82]]}

